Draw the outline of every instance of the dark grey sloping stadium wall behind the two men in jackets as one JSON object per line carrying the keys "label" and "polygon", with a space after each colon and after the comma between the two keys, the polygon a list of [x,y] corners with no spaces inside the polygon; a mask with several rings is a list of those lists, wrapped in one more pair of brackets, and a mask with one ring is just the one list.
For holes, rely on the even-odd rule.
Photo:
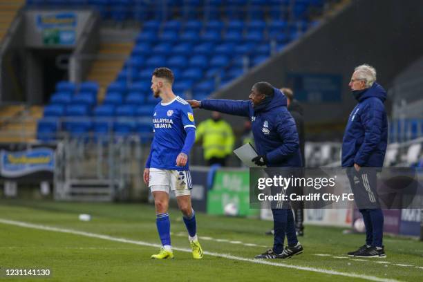
{"label": "dark grey sloping stadium wall behind the two men in jackets", "polygon": [[[388,89],[395,75],[423,53],[421,15],[423,1],[419,0],[351,1],[214,97],[246,100],[252,85],[263,80],[276,87],[292,86],[287,79],[290,73],[340,75],[339,102],[304,102],[303,106],[308,124],[344,123],[355,105],[348,87],[353,68],[363,63],[375,66],[378,82]],[[197,120],[208,116],[197,113]],[[227,118],[234,125],[240,122]]]}

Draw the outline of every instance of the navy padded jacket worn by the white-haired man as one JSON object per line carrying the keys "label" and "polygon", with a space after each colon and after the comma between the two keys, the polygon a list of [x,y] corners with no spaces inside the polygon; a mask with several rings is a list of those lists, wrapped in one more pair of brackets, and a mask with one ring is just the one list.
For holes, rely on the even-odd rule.
{"label": "navy padded jacket worn by the white-haired man", "polygon": [[386,91],[376,82],[356,94],[342,140],[342,167],[382,167],[388,142]]}

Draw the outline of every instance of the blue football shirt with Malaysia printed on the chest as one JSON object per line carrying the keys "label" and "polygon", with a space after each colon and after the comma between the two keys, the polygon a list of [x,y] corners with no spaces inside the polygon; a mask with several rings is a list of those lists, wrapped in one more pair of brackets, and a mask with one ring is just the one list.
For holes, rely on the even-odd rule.
{"label": "blue football shirt with Malaysia printed on the chest", "polygon": [[153,114],[154,138],[151,143],[150,168],[178,171],[188,169],[188,162],[185,167],[176,166],[176,158],[187,137],[187,127],[196,128],[194,114],[187,101],[176,96],[171,102],[160,102],[156,105]]}

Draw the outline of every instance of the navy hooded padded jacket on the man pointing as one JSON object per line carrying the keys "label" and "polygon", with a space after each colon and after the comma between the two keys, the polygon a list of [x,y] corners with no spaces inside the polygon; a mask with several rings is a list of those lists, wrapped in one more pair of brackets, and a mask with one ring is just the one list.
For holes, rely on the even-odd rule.
{"label": "navy hooded padded jacket on the man pointing", "polygon": [[286,106],[285,95],[276,88],[272,100],[260,109],[249,100],[201,101],[202,109],[250,117],[257,152],[266,156],[267,167],[301,167],[297,127]]}

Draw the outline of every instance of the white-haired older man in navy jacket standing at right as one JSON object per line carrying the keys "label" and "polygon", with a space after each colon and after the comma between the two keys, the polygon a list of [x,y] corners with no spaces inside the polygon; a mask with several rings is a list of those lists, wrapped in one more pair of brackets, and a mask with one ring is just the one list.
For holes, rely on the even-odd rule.
{"label": "white-haired older man in navy jacket standing at right", "polygon": [[358,104],[348,118],[342,140],[342,167],[349,168],[355,202],[366,226],[366,244],[348,255],[385,257],[384,214],[377,200],[377,169],[366,168],[379,168],[384,164],[388,141],[386,91],[376,83],[375,68],[366,64],[355,68],[349,86]]}

